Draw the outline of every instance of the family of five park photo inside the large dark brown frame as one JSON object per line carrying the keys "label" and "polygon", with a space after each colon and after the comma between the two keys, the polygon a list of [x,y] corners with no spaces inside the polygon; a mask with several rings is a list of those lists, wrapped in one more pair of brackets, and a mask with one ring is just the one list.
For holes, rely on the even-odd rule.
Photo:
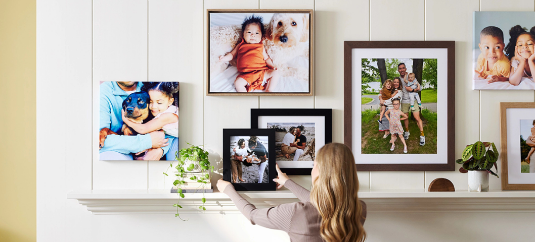
{"label": "family of five park photo inside the large dark brown frame", "polygon": [[361,61],[362,154],[437,154],[438,59]]}

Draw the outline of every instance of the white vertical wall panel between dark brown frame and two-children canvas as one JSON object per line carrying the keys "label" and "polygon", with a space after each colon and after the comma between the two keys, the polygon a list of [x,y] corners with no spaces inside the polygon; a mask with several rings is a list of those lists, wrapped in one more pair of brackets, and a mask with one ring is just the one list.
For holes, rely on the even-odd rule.
{"label": "white vertical wall panel between dark brown frame and two-children canvas", "polygon": [[[460,157],[466,144],[479,140],[479,91],[472,90],[472,12],[479,10],[478,0],[427,0],[425,16],[426,41],[455,41],[455,157]],[[455,16],[455,18],[451,18]],[[444,19],[449,19],[444,21]],[[455,33],[455,34],[452,34]],[[457,190],[468,182],[467,174],[458,172],[426,172],[425,187],[436,178],[447,178]]]}

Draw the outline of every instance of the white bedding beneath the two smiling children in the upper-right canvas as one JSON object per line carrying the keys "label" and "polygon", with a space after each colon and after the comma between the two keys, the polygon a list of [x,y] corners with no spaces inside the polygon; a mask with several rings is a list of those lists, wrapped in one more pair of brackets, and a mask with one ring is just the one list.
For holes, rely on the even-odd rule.
{"label": "white bedding beneath the two smiling children in the upper-right canvas", "polygon": [[475,49],[472,52],[472,89],[473,90],[535,90],[535,82],[532,78],[522,77],[518,86],[511,85],[509,82],[487,83],[486,79],[476,79],[477,57],[481,50]]}

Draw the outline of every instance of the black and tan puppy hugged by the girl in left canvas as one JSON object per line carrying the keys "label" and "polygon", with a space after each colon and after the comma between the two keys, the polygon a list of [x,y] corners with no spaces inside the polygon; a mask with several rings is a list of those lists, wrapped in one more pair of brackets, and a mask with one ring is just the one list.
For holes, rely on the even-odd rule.
{"label": "black and tan puppy hugged by the girl in left canvas", "polygon": [[[123,101],[123,110],[125,111],[125,118],[130,119],[134,123],[145,123],[149,122],[154,116],[152,116],[149,110],[150,96],[147,92],[134,92],[126,97]],[[123,124],[121,128],[121,133],[123,135],[137,135],[137,132],[128,127],[126,124]],[[104,140],[109,134],[117,134],[109,128],[102,128],[99,135],[99,149],[104,147]]]}

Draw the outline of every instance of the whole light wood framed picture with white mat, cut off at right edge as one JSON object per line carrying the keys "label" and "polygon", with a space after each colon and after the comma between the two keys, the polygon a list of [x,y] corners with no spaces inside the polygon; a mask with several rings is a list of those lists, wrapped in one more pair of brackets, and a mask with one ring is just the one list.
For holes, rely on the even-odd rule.
{"label": "whole light wood framed picture with white mat, cut off at right edge", "polygon": [[535,190],[535,102],[500,103],[502,190]]}

